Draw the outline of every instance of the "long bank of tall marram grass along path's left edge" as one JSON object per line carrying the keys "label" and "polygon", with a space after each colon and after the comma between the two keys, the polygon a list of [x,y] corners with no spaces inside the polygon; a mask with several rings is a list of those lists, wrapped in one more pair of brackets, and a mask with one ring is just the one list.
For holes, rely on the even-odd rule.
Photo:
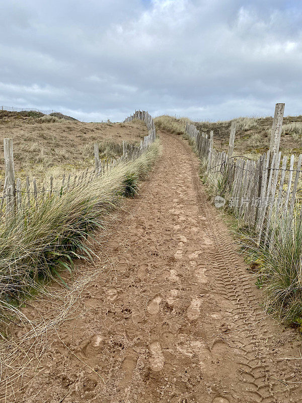
{"label": "long bank of tall marram grass along path's left edge", "polygon": [[[50,279],[64,283],[60,270],[72,273],[72,258],[92,258],[93,232],[125,196],[137,193],[159,153],[158,142],[139,158],[120,163],[102,177],[22,206],[10,225],[0,228],[0,319]],[[67,286],[67,285],[66,285]],[[12,309],[10,309],[12,308]]]}

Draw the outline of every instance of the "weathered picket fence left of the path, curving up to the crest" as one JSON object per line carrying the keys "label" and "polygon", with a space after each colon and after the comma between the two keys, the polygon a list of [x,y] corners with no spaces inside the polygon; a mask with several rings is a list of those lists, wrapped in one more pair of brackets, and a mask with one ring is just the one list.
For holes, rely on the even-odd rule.
{"label": "weathered picket fence left of the path, curving up to the crest", "polygon": [[0,225],[9,223],[24,205],[27,207],[38,206],[47,197],[50,198],[54,195],[60,197],[74,188],[81,191],[81,188],[97,177],[106,175],[119,163],[138,158],[155,141],[156,131],[153,118],[147,112],[135,111],[124,121],[131,121],[134,118],[144,121],[148,129],[148,135],[144,137],[139,146],[123,141],[123,154],[118,159],[100,160],[99,145],[95,143],[95,166],[93,168],[88,167],[86,170],[74,174],[63,174],[59,181],[55,181],[51,176],[47,183],[45,180],[43,181],[40,189],[38,189],[35,178],[31,181],[27,176],[25,183],[20,178],[15,179],[13,140],[4,139],[5,181],[4,184],[0,181],[0,189],[3,185],[0,197]]}

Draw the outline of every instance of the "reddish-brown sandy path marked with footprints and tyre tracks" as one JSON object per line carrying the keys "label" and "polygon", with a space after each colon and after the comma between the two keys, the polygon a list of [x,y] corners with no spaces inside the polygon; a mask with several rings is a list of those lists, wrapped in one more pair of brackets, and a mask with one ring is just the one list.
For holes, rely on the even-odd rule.
{"label": "reddish-brown sandy path marked with footprints and tyre tracks", "polygon": [[126,201],[129,215],[107,245],[115,271],[83,295],[85,310],[60,327],[45,370],[23,398],[302,401],[300,360],[281,360],[299,357],[298,335],[262,314],[254,283],[201,188],[197,157],[179,138],[161,139],[161,161],[141,197]]}

